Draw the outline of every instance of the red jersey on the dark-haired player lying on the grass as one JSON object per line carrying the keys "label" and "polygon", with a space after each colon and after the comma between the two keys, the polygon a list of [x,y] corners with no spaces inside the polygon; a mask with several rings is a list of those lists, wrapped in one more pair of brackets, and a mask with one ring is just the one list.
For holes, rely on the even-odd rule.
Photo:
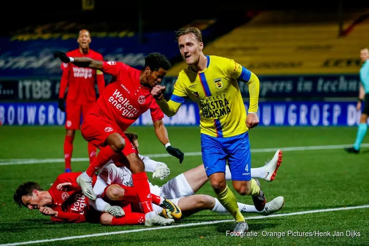
{"label": "red jersey on the dark-haired player lying on the grass", "polygon": [[[52,221],[78,223],[87,220],[90,210],[89,198],[82,193],[81,187],[76,183],[76,179],[81,173],[63,173],[59,175],[48,190],[53,200],[51,208],[58,211],[58,217],[51,216]],[[93,177],[93,183],[95,181],[96,176]],[[57,189],[58,184],[66,182],[72,184],[68,190]]]}

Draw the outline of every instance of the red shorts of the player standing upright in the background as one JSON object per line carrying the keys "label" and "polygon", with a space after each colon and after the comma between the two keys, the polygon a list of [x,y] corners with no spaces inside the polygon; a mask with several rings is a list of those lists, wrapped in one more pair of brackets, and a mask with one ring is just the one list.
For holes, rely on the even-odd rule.
{"label": "red shorts of the player standing upright in the background", "polygon": [[95,102],[79,105],[73,101],[65,103],[65,129],[79,130],[81,126],[81,117],[84,119],[90,110],[95,106]]}

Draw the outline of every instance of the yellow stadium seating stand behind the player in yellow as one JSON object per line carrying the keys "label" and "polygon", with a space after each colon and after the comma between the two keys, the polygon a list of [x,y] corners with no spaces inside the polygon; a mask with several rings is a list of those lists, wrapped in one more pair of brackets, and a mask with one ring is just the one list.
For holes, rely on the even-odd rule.
{"label": "yellow stadium seating stand behind the player in yellow", "polygon": [[[362,14],[347,14],[344,28]],[[339,37],[338,23],[331,21],[335,15],[267,11],[205,44],[204,53],[234,59],[258,75],[357,73],[359,50],[368,46],[369,22]],[[169,75],[185,66],[176,64]]]}

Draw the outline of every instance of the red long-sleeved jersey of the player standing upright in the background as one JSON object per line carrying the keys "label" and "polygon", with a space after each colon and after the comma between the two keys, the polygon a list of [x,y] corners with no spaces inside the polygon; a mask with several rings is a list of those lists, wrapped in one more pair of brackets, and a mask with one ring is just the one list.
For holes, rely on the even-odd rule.
{"label": "red long-sleeved jersey of the player standing upright in the background", "polygon": [[[90,57],[93,60],[103,61],[102,55],[91,50],[82,54],[79,49],[66,53],[68,57]],[[68,87],[66,99],[75,104],[84,105],[96,101],[95,82],[101,95],[105,88],[104,75],[99,70],[89,67],[78,67],[73,63],[62,63],[62,80],[60,82],[59,98],[64,98]]]}

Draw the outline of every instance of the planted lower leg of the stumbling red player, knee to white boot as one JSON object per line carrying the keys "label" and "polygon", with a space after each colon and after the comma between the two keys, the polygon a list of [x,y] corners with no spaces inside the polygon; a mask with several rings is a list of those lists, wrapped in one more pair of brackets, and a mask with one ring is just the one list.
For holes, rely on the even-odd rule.
{"label": "planted lower leg of the stumbling red player, knee to white boot", "polygon": [[133,186],[137,188],[137,196],[141,202],[145,214],[145,225],[171,225],[174,219],[164,218],[154,212],[152,196],[148,177],[145,172],[144,162],[138,154],[132,153],[125,156],[128,160],[128,168],[132,171]]}

